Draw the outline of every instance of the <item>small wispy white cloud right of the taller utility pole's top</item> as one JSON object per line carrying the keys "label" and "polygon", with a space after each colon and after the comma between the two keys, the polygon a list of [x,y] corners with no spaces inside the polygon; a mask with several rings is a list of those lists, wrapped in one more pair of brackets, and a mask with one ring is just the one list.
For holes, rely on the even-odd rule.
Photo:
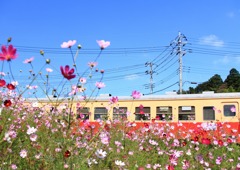
{"label": "small wispy white cloud right of the taller utility pole's top", "polygon": [[220,40],[216,35],[208,35],[200,38],[200,44],[214,46],[214,47],[222,47],[224,42]]}

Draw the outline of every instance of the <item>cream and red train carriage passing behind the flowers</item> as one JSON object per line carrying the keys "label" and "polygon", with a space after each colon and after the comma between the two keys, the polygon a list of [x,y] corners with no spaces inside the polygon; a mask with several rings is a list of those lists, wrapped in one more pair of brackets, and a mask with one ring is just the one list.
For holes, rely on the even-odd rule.
{"label": "cream and red train carriage passing behind the flowers", "polygon": [[[92,99],[72,101],[71,107],[76,119],[97,125],[99,120],[125,119],[134,122],[135,129],[152,124],[173,127],[172,132],[184,127],[193,133],[214,131],[221,138],[231,136],[240,142],[240,93],[143,95],[138,99],[132,96],[118,96],[110,102],[111,95],[99,95]],[[49,102],[46,99],[29,100],[35,107]],[[66,109],[69,100],[58,107]],[[53,108],[51,108],[53,109]],[[224,134],[223,134],[224,129]],[[220,133],[221,131],[221,133]],[[201,133],[202,133],[201,132]]]}

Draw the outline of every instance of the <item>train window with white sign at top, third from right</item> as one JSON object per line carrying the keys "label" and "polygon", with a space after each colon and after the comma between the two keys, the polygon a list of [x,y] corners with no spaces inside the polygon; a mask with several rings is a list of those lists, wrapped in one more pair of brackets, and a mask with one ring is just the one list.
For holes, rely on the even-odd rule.
{"label": "train window with white sign at top, third from right", "polygon": [[195,120],[195,107],[194,106],[179,106],[178,107],[178,120]]}

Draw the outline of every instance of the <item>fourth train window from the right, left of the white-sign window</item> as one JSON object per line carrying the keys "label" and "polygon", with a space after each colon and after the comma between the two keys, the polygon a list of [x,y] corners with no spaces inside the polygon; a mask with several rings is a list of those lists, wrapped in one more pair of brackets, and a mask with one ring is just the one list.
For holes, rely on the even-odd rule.
{"label": "fourth train window from the right, left of the white-sign window", "polygon": [[172,107],[171,106],[157,107],[156,120],[172,120]]}

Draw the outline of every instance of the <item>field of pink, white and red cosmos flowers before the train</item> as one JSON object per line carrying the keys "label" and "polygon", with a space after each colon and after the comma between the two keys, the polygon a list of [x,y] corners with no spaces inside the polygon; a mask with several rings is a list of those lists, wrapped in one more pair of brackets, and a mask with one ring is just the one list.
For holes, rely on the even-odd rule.
{"label": "field of pink, white and red cosmos flowers before the train", "polygon": [[[10,42],[11,39],[8,40]],[[64,42],[61,47],[71,50],[75,43],[76,41]],[[97,43],[100,53],[93,62],[89,62],[89,68],[85,71],[90,74],[102,51],[110,45],[110,42],[103,40]],[[78,45],[77,48],[80,50],[81,46]],[[1,50],[0,60],[8,62],[11,70],[11,60],[17,57],[17,49],[7,44]],[[40,51],[40,55],[45,61],[42,68],[46,68],[49,74],[53,71],[50,68],[51,60],[45,58],[44,51]],[[32,66],[33,58],[26,59],[24,63]],[[73,65],[72,68],[70,64]],[[152,121],[136,128],[135,122],[129,122],[125,118],[98,120],[95,124],[84,120],[82,115],[76,119],[72,108],[75,97],[79,94],[84,96],[79,102],[81,107],[81,102],[88,102],[94,96],[84,93],[87,78],[78,74],[74,55],[70,64],[59,69],[67,83],[77,79],[71,84],[70,98],[60,99],[65,85],[62,83],[59,88],[51,89],[57,102],[51,102],[49,97],[47,106],[41,108],[29,107],[23,96],[29,90],[38,88],[34,83],[41,77],[42,70],[35,73],[32,71],[28,86],[20,89],[11,71],[11,81],[6,82],[2,65],[0,169],[240,170],[240,145],[233,137],[225,136],[224,128],[224,138],[219,139],[211,136],[211,125],[207,125],[208,130],[199,129],[199,133],[196,133],[191,130],[182,131],[184,128],[180,128],[180,123],[173,127],[168,121],[162,124]],[[103,75],[104,70],[98,73]],[[46,83],[42,88],[45,92],[49,90],[48,74],[44,77]],[[105,86],[102,80],[103,76],[95,83],[96,95]],[[133,100],[141,97],[141,93],[136,90],[131,95]],[[64,101],[68,102],[64,110],[47,109],[57,108]],[[117,102],[118,98],[112,97],[109,107],[114,107]],[[179,128],[178,134],[172,133],[173,128]],[[181,134],[185,135],[179,137]]]}

